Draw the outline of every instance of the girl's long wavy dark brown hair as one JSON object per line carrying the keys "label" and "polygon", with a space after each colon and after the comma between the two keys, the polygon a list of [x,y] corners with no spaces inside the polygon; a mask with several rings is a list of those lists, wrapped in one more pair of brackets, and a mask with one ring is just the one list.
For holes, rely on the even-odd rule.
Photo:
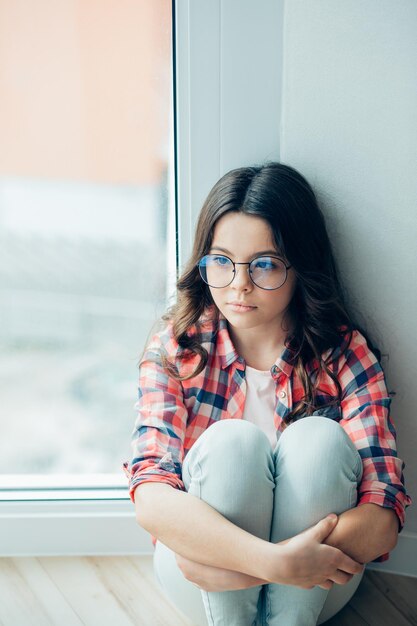
{"label": "girl's long wavy dark brown hair", "polygon": [[[162,356],[163,365],[172,376],[186,380],[199,374],[207,364],[208,354],[198,328],[208,307],[216,307],[197,264],[210,250],[216,222],[229,211],[266,220],[277,249],[296,273],[297,286],[289,306],[294,325],[286,346],[293,353],[304,397],[287,416],[285,421],[289,423],[318,408],[315,395],[321,372],[333,379],[339,396],[336,401],[340,400],[340,383],[328,365],[331,353],[326,360],[323,354],[336,347],[341,347],[343,353],[354,329],[364,335],[378,360],[381,353],[348,311],[324,216],[311,186],[294,168],[269,162],[231,170],[214,185],[204,202],[191,257],[177,281],[177,301],[162,317],[164,322],[172,322],[173,335],[182,349],[176,359],[198,355],[200,361],[193,372],[181,377],[175,365]],[[192,327],[194,332],[190,333]],[[343,341],[346,333],[349,340]],[[316,376],[312,376],[311,367],[307,368],[312,360],[318,363]]]}

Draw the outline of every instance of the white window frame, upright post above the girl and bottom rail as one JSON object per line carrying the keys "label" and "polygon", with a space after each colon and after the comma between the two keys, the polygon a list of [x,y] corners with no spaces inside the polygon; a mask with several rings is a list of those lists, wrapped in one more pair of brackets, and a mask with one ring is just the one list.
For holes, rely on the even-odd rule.
{"label": "white window frame, upright post above the girl and bottom rail", "polygon": [[[279,160],[283,0],[172,4],[182,267],[216,180],[234,167]],[[151,553],[122,470],[0,477],[0,556]]]}

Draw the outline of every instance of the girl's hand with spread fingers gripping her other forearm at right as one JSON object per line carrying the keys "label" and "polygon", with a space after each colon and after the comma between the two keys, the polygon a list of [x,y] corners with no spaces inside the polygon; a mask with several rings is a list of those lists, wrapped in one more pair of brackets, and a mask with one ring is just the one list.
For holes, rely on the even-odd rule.
{"label": "girl's hand with spread fingers gripping her other forearm at right", "polygon": [[277,582],[302,589],[312,589],[316,585],[331,589],[333,583],[345,585],[353,574],[363,571],[362,563],[357,563],[338,548],[321,543],[333,531],[337,519],[337,516],[333,519],[326,517],[295,537],[276,544],[285,546],[282,551],[285,565],[283,570],[281,566],[277,568],[277,572],[280,571]]}

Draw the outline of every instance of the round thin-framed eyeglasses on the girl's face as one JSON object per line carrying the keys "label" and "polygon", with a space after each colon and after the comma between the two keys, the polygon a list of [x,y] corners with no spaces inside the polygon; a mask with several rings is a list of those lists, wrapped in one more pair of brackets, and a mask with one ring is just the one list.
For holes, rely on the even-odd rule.
{"label": "round thin-framed eyeglasses on the girl's face", "polygon": [[235,263],[223,254],[206,254],[198,262],[201,278],[210,287],[227,287],[236,276],[236,265],[248,265],[249,277],[261,289],[279,289],[287,280],[291,265],[276,256],[259,256],[249,263]]}

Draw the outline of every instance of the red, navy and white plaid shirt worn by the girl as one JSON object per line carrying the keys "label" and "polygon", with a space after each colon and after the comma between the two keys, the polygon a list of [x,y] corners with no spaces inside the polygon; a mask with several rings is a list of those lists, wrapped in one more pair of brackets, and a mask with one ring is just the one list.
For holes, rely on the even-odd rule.
{"label": "red, navy and white plaid shirt worn by the girl", "polygon": [[[180,362],[176,356],[181,348],[172,332],[172,324],[155,334],[147,346],[139,367],[139,399],[135,404],[138,416],[132,433],[133,459],[123,463],[129,479],[129,495],[144,482],[165,482],[185,491],[182,462],[198,437],[218,420],[242,419],[245,405],[245,362],[231,341],[227,322],[219,314],[215,322],[209,315],[202,318],[199,332],[208,352],[203,371],[188,380],[178,381],[161,365],[161,353],[176,364],[180,374],[191,373],[198,356]],[[344,329],[346,330],[346,329]],[[196,327],[189,331],[196,332]],[[329,367],[337,375],[342,400],[325,406],[337,398],[337,388],[328,374],[320,374],[319,392],[313,414],[334,419],[345,429],[355,444],[363,463],[363,476],[358,489],[358,506],[371,502],[394,509],[399,530],[404,526],[405,508],[412,501],[404,487],[405,464],[397,457],[396,432],[389,416],[384,372],[363,335],[353,331],[347,351],[342,354],[349,333],[341,334],[340,345],[327,351]],[[304,395],[302,383],[291,363],[289,348],[275,361],[271,376],[276,382],[274,424],[277,431],[286,427],[284,418]],[[317,360],[307,364],[313,376]],[[281,398],[280,392],[284,398]],[[320,407],[323,407],[320,409]],[[152,537],[152,535],[151,535]],[[155,545],[156,538],[152,537]],[[389,553],[377,559],[386,561]]]}

